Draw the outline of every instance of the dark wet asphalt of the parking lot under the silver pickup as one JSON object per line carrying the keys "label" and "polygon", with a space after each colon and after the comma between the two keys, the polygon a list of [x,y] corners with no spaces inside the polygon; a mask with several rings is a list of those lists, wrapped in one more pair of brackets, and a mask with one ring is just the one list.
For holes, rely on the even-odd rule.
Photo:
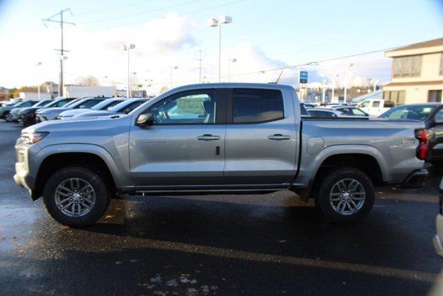
{"label": "dark wet asphalt of the parking lot under the silver pickup", "polygon": [[290,192],[120,196],[84,229],[53,222],[12,180],[21,128],[0,122],[4,295],[426,295],[437,185],[377,190],[370,216],[328,223]]}

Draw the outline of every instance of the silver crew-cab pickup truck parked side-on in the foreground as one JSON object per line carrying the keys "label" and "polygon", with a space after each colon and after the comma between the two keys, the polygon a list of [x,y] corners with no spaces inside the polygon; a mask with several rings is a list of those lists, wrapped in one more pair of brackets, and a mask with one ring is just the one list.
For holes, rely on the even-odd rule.
{"label": "silver crew-cab pickup truck parked side-on in the foreground", "polygon": [[421,186],[424,123],[302,113],[289,86],[178,87],[129,114],[24,129],[14,179],[71,227],[98,220],[114,193],[291,190],[347,223],[370,212],[374,186]]}

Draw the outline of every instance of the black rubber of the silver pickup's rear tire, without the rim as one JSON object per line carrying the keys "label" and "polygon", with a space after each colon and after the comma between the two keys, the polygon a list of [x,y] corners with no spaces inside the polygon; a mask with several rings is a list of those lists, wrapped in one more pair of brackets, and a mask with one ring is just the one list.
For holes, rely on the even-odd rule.
{"label": "black rubber of the silver pickup's rear tire, without the rim", "polygon": [[[345,185],[336,185],[341,180],[344,180]],[[359,184],[356,184],[355,182],[352,183],[352,180],[355,180]],[[348,188],[348,186],[352,188],[358,187],[360,193],[354,192],[354,195],[352,194],[352,190],[350,190],[350,193],[345,190],[345,193],[338,195],[342,192],[339,189],[352,189]],[[363,202],[361,202],[361,200],[354,200],[363,197],[361,189],[364,191]],[[329,194],[331,193],[334,194],[332,197],[334,198],[334,201],[329,200]],[[372,184],[368,175],[357,168],[339,168],[330,171],[325,175],[323,182],[320,182],[320,189],[316,196],[316,205],[328,220],[334,223],[352,223],[363,219],[369,214],[374,205],[374,200],[374,184]],[[342,202],[341,205],[338,205],[339,202]],[[343,214],[340,212],[342,207],[344,208],[344,211],[342,211]],[[354,212],[352,212],[351,207],[354,207]]]}

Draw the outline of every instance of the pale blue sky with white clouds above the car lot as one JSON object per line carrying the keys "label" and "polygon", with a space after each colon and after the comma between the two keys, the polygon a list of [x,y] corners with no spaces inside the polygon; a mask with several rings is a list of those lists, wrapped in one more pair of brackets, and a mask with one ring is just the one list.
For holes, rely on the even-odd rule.
{"label": "pale blue sky with white clouds above the car lot", "polygon": [[[121,45],[136,44],[131,71],[139,82],[152,80],[152,92],[199,81],[198,51],[204,81],[217,82],[217,28],[208,18],[233,17],[222,26],[221,80],[275,81],[270,69],[286,69],[280,82],[294,85],[300,69],[309,82],[337,76],[343,84],[345,64],[354,85],[375,79],[388,82],[390,59],[381,49],[443,37],[442,0],[400,1],[265,1],[265,0],[0,0],[0,86],[19,87],[58,81],[60,26],[41,19],[71,8],[64,30],[65,83],[96,76],[102,85],[124,87],[127,55]],[[354,58],[348,55],[379,51]],[[331,60],[327,62],[320,62]],[[42,66],[35,67],[37,62]],[[145,82],[147,81],[147,82]]]}

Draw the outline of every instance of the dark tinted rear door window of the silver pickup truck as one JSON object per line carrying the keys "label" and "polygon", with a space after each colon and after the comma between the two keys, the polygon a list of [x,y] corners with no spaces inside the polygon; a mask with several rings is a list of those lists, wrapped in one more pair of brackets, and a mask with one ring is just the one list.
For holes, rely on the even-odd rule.
{"label": "dark tinted rear door window of the silver pickup truck", "polygon": [[233,123],[262,123],[284,118],[282,92],[233,89]]}

